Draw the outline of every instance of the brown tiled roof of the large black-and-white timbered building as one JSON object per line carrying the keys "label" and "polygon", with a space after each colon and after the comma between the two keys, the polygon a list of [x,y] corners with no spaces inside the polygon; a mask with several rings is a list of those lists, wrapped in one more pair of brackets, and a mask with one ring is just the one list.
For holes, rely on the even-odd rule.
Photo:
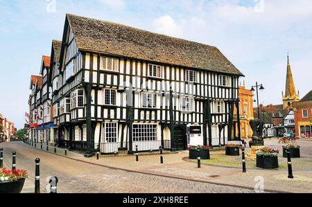
{"label": "brown tiled roof of the large black-and-white timbered building", "polygon": [[67,24],[80,51],[243,75],[215,46],[70,14]]}

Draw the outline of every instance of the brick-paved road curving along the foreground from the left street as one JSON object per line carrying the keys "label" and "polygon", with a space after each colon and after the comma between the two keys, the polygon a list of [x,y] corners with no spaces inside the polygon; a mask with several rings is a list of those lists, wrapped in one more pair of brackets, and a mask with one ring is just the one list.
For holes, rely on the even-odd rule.
{"label": "brick-paved road curving along the foreground from the left street", "polygon": [[[51,175],[59,179],[58,192],[254,192],[254,190],[245,188],[187,181],[92,165],[44,152],[44,150],[35,149],[25,143],[1,143],[0,147],[4,149],[4,166],[6,168],[11,167],[12,152],[17,152],[17,168],[28,170],[30,177],[27,179],[27,188],[31,188],[30,185],[34,181],[35,158],[39,157],[41,159],[40,182],[42,192],[46,192],[46,186],[48,185],[46,178]],[[50,151],[53,151],[53,149]],[[58,153],[62,153],[62,151],[59,150]],[[81,154],[74,152],[69,152],[68,156],[82,161],[89,161],[89,159],[84,160]],[[198,178],[203,178],[199,175],[200,173]],[[205,176],[208,175],[205,174]]]}

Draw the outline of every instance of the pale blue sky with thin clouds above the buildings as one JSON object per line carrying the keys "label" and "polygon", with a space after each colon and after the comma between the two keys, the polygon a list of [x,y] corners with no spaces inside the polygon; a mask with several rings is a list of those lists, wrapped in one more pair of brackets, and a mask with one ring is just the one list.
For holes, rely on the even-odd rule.
{"label": "pale blue sky with thin clouds above the buildings", "polygon": [[113,21],[216,46],[239,69],[259,103],[281,104],[289,53],[296,90],[312,80],[311,0],[0,0],[0,113],[21,128],[30,77],[40,73],[65,14]]}

